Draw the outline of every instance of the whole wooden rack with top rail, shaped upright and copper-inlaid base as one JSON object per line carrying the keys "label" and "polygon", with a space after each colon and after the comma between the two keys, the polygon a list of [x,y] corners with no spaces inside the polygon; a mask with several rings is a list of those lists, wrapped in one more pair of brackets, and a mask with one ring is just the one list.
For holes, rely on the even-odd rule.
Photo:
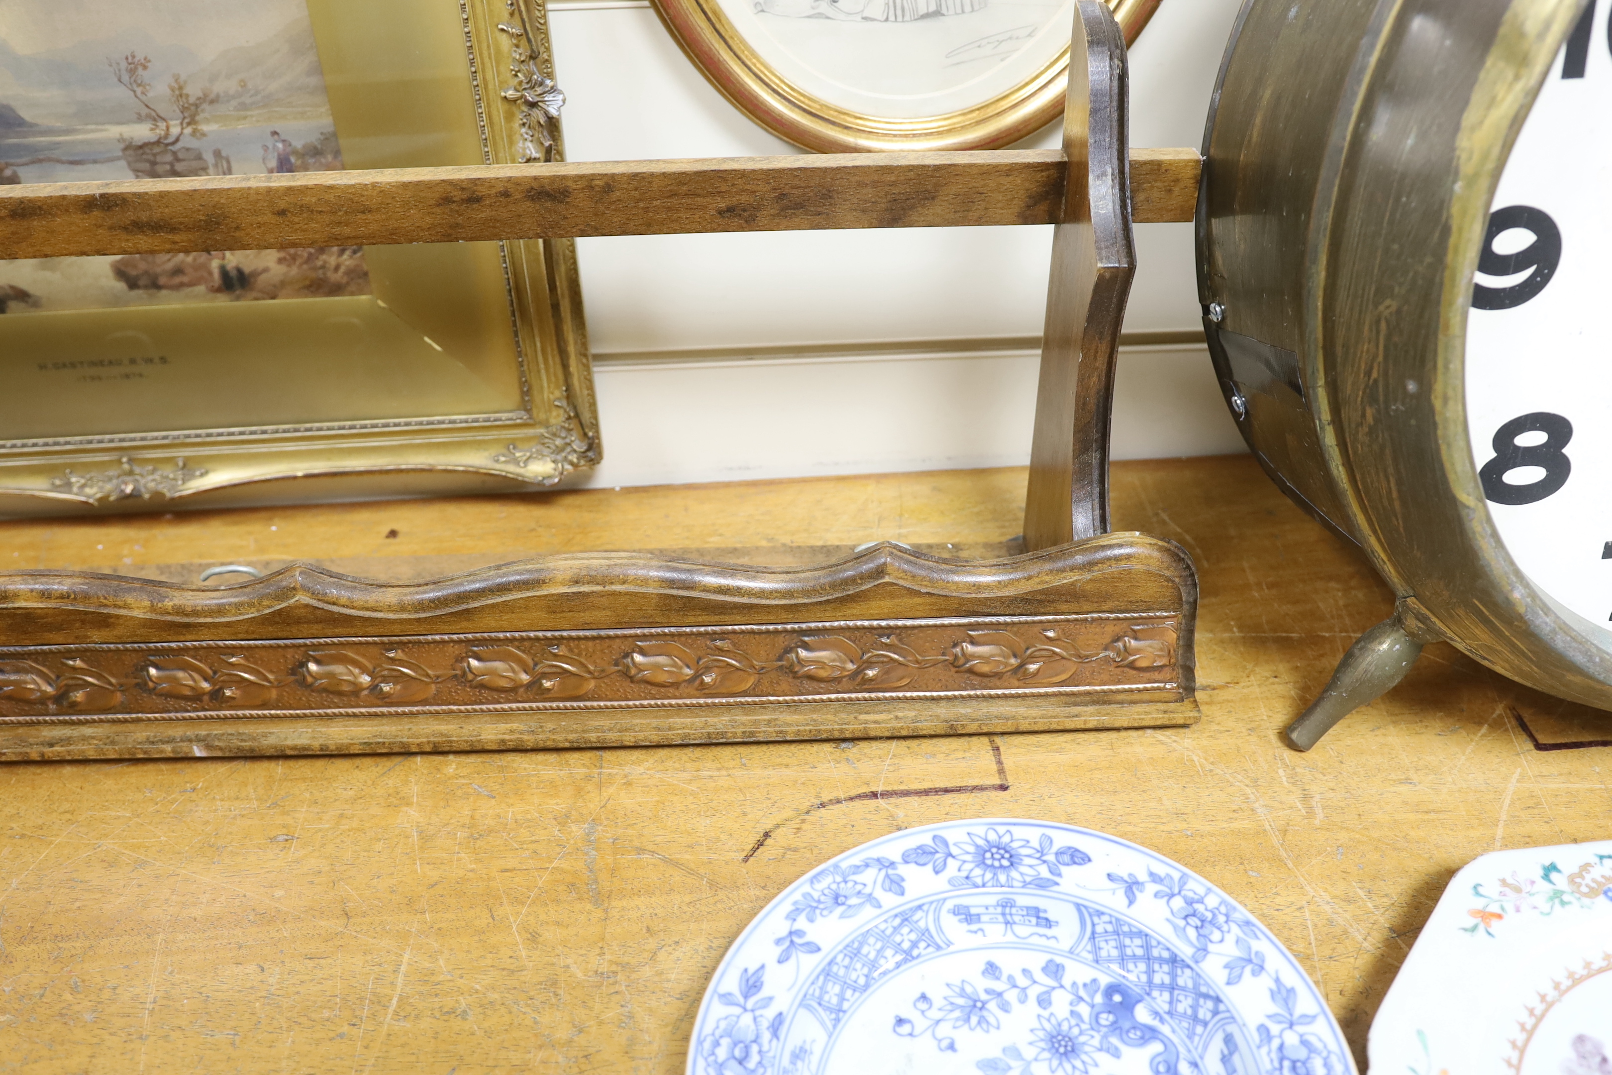
{"label": "whole wooden rack with top rail, shaped upright and copper-inlaid base", "polygon": [[1080,0],[1070,55],[1049,151],[0,187],[0,258],[1056,224],[1024,553],[584,553],[421,583],[316,564],[229,587],[5,572],[0,759],[1194,722],[1191,559],[1107,532],[1107,434],[1132,221],[1191,219],[1199,158],[1128,150],[1125,45],[1098,0]]}

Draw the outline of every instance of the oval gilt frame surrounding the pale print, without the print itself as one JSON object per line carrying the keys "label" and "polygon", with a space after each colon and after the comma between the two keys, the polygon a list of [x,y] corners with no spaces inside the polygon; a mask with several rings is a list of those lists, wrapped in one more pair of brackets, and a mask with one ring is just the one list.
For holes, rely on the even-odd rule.
{"label": "oval gilt frame surrounding the pale print, without the print itself", "polygon": [[[1107,0],[1136,40],[1161,0]],[[938,116],[893,119],[850,111],[787,81],[722,13],[717,0],[653,0],[666,29],[722,97],[772,134],[819,153],[990,150],[1035,134],[1064,110],[1069,48],[1012,90]]]}

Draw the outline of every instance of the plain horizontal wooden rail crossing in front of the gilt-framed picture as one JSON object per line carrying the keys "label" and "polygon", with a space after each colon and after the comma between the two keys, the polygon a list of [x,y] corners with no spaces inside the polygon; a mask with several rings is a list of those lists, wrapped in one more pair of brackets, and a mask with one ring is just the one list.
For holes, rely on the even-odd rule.
{"label": "plain horizontal wooden rail crossing in front of the gilt-framed picture", "polygon": [[[1062,150],[400,168],[0,187],[0,258],[1051,224]],[[1133,150],[1138,224],[1190,221],[1196,150]]]}

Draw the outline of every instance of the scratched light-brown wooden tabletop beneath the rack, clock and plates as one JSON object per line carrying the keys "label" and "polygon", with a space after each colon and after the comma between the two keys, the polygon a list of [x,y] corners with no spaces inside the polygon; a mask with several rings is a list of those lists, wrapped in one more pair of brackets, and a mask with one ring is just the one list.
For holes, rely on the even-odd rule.
{"label": "scratched light-brown wooden tabletop beneath the rack, clock and plates", "polygon": [[[287,558],[406,556],[430,532],[464,554],[783,556],[783,535],[999,543],[1024,488],[1024,471],[914,474],[32,521],[0,540],[13,562],[48,566],[118,564],[134,545],[200,561],[224,532]],[[1296,754],[1283,724],[1388,591],[1248,458],[1117,464],[1114,517],[1198,561],[1194,728],[6,766],[0,1059],[680,1072],[708,975],[780,888],[864,840],[975,816],[1090,825],[1206,875],[1294,951],[1359,1051],[1457,867],[1607,835],[1612,725],[1430,646],[1404,685]],[[1570,746],[1586,740],[1602,743]]]}

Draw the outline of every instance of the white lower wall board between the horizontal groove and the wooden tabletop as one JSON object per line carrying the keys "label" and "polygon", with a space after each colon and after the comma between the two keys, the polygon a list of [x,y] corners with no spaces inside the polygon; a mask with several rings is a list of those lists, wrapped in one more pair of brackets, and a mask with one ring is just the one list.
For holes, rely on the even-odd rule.
{"label": "white lower wall board between the horizontal groove and the wooden tabletop", "polygon": [[[604,461],[567,487],[1022,466],[1038,353],[598,356]],[[1120,350],[1116,459],[1246,451],[1203,345]]]}

